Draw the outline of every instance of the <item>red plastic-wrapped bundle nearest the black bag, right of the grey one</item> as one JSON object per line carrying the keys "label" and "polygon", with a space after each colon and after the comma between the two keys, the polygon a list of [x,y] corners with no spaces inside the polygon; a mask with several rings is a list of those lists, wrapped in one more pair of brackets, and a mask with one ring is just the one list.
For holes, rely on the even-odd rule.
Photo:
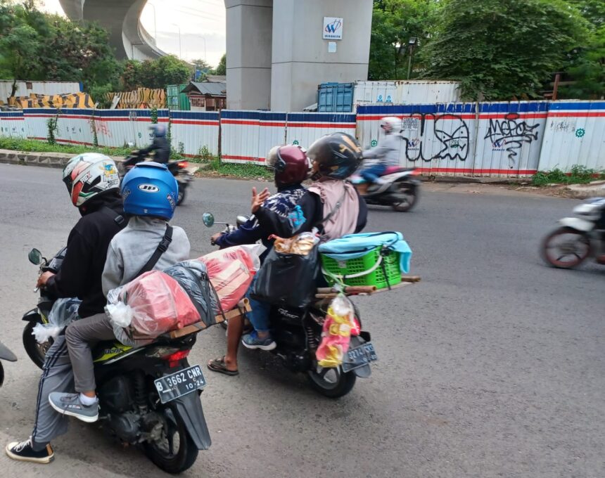
{"label": "red plastic-wrapped bundle nearest the black bag, right of the grey one", "polygon": [[243,298],[260,268],[259,256],[263,245],[237,245],[210,252],[198,260],[208,268],[210,282],[215,288],[224,311],[233,309]]}

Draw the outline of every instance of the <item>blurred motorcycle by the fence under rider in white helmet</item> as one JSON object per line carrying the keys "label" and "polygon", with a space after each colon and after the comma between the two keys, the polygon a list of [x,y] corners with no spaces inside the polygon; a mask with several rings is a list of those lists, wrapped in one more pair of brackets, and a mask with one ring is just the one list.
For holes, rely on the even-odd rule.
{"label": "blurred motorcycle by the fence under rider in white helmet", "polygon": [[[388,167],[381,174],[384,184],[371,184],[364,192],[367,204],[390,206],[399,212],[407,212],[418,202],[420,195],[420,179],[417,168]],[[364,183],[361,176],[352,176],[354,186]]]}

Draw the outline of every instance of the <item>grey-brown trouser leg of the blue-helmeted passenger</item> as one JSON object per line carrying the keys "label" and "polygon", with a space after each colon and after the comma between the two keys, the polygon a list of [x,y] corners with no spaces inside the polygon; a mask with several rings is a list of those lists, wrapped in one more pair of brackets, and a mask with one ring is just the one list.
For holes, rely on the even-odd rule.
{"label": "grey-brown trouser leg of the blue-helmeted passenger", "polygon": [[102,340],[114,339],[113,327],[106,314],[81,318],[65,329],[76,392],[91,392],[96,389],[91,348]]}

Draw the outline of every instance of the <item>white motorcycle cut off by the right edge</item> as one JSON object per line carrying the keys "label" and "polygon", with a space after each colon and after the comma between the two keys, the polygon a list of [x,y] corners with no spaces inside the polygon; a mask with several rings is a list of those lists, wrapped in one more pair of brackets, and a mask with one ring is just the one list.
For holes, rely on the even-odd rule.
{"label": "white motorcycle cut off by the right edge", "polygon": [[579,266],[589,257],[605,254],[605,230],[597,222],[605,209],[605,198],[590,198],[573,208],[580,217],[564,217],[561,226],[542,241],[542,257],[560,269]]}

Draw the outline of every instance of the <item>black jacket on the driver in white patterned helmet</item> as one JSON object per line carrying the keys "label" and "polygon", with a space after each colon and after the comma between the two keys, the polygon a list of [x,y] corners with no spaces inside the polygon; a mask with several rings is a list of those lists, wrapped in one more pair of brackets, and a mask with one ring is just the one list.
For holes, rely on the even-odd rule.
{"label": "black jacket on the driver in white patterned helmet", "polygon": [[[108,207],[114,213],[103,210]],[[80,317],[103,312],[106,298],[101,289],[101,276],[113,236],[127,224],[122,199],[115,195],[92,198],[80,208],[82,218],[72,228],[68,250],[60,271],[46,282],[46,290],[55,297],[82,299]],[[121,215],[118,224],[115,216]]]}

